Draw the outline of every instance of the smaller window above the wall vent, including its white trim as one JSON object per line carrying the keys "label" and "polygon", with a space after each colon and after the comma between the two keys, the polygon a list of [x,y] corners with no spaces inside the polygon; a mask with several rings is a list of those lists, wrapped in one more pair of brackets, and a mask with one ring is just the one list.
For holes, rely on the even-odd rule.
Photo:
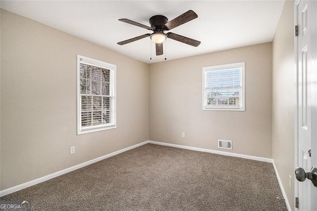
{"label": "smaller window above the wall vent, including its white trim", "polygon": [[245,110],[245,62],[203,67],[203,110]]}

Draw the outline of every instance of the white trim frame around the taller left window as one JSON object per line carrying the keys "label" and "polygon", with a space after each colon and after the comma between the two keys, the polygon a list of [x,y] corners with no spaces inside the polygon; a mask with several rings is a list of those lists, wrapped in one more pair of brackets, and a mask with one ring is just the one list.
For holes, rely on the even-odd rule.
{"label": "white trim frame around the taller left window", "polygon": [[[106,124],[106,125],[96,125],[96,126],[89,126],[86,128],[81,127],[81,98],[80,98],[80,63],[87,63],[92,64],[95,66],[99,66],[102,68],[107,68],[113,70],[113,77],[114,77],[114,113],[113,113],[113,123]],[[97,131],[103,130],[110,130],[116,128],[116,65],[106,63],[104,61],[99,61],[93,58],[89,58],[86,56],[78,55],[77,54],[77,135],[86,134],[86,133],[93,133]]]}

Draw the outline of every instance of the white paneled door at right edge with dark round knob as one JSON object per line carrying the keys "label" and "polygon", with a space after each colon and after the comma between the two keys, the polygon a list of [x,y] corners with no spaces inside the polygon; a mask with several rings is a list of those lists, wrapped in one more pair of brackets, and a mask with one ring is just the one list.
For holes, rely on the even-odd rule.
{"label": "white paneled door at right edge with dark round knob", "polygon": [[[295,42],[298,151],[295,159],[296,165],[308,173],[302,171],[302,180],[305,177],[317,179],[317,174],[309,174],[312,166],[317,167],[317,0],[299,0],[295,8],[295,21],[298,25]],[[303,169],[297,171],[297,178],[301,177],[300,170]],[[298,209],[317,211],[317,187],[309,179],[296,183]]]}

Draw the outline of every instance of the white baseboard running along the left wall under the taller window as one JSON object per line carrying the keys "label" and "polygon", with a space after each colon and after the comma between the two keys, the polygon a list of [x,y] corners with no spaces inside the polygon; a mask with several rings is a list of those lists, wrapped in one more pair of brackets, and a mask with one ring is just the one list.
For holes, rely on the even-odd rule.
{"label": "white baseboard running along the left wall under the taller window", "polygon": [[24,188],[27,188],[27,187],[30,187],[30,186],[33,186],[33,185],[36,185],[36,184],[39,184],[39,183],[47,181],[49,179],[53,179],[54,177],[69,173],[71,171],[77,170],[79,168],[82,168],[82,167],[85,167],[87,165],[93,164],[93,163],[98,162],[100,160],[103,160],[103,159],[106,159],[106,158],[110,158],[112,156],[118,155],[118,154],[126,152],[128,150],[132,150],[134,148],[140,147],[140,146],[148,144],[148,143],[149,143],[149,141],[145,141],[145,142],[142,142],[140,144],[136,144],[136,145],[133,145],[131,147],[127,147],[127,148],[124,148],[122,150],[115,151],[115,152],[107,154],[105,156],[102,156],[102,157],[99,157],[99,158],[95,158],[95,159],[80,163],[78,165],[74,165],[72,167],[69,167],[69,168],[54,172],[54,173],[49,174],[47,176],[40,177],[40,178],[34,179],[32,181],[29,181],[29,182],[26,182],[26,183],[23,183],[23,184],[20,184],[20,185],[16,185],[16,186],[8,188],[8,189],[4,189],[4,190],[0,191],[0,197],[8,195],[8,194],[16,192],[16,191],[19,191],[19,190],[22,190]]}

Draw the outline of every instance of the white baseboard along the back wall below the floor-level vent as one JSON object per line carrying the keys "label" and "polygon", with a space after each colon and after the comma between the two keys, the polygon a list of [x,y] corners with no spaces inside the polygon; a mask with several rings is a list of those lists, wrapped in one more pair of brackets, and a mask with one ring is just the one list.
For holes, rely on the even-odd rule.
{"label": "white baseboard along the back wall below the floor-level vent", "polygon": [[176,148],[181,148],[181,149],[186,149],[186,150],[200,151],[200,152],[205,152],[205,153],[213,153],[213,154],[236,157],[236,158],[253,159],[253,160],[270,162],[270,163],[273,162],[273,159],[270,159],[270,158],[262,158],[262,157],[248,156],[248,155],[242,155],[242,154],[236,154],[236,153],[228,153],[228,152],[223,152],[223,151],[209,150],[209,149],[197,148],[197,147],[188,147],[188,146],[178,145],[178,144],[169,144],[169,143],[163,143],[163,142],[157,142],[157,141],[148,141],[148,143],[158,144],[158,145],[163,145],[163,146],[168,146],[168,147],[176,147]]}

